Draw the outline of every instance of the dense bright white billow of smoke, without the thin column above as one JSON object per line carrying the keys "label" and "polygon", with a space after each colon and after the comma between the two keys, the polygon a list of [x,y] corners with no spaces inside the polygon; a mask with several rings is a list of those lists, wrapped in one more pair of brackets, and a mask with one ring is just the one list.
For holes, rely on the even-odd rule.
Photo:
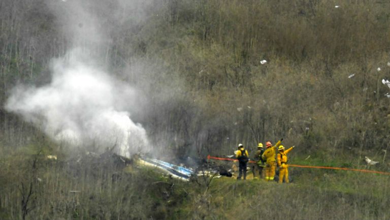
{"label": "dense bright white billow of smoke, without the thin column above", "polygon": [[21,114],[58,142],[94,145],[98,150],[114,147],[128,157],[141,148],[147,150],[145,129],[126,111],[140,102],[137,92],[79,61],[81,54],[73,50],[66,56],[70,58],[55,59],[50,84],[14,88],[6,109]]}

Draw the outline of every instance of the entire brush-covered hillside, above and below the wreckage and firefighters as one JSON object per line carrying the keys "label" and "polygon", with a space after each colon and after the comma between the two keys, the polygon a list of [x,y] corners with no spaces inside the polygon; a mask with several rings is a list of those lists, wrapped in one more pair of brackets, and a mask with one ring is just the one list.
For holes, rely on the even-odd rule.
{"label": "entire brush-covered hillside, above and below the wreckage and firefighters", "polygon": [[[100,16],[120,10],[96,2]],[[297,164],[390,172],[390,4],[337,4],[155,0],[141,21],[105,19],[111,40],[91,53],[142,91],[132,118],[171,160],[283,137]],[[45,1],[0,1],[2,106],[16,85],[50,82],[50,60],[72,42]],[[0,128],[0,219],[390,218],[388,176],[295,168],[289,185],[187,183],[68,149],[3,107]]]}

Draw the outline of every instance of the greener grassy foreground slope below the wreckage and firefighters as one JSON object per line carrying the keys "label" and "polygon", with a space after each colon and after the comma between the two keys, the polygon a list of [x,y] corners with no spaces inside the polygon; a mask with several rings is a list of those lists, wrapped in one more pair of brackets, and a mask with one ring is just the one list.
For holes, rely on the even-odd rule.
{"label": "greener grassy foreground slope below the wreckage and firefighters", "polygon": [[[11,160],[12,159],[12,160]],[[27,159],[27,160],[26,160]],[[389,176],[290,168],[293,182],[199,177],[84,156],[3,159],[2,219],[388,219]],[[97,163],[96,163],[97,162]],[[17,184],[15,184],[17,183]],[[30,188],[31,187],[31,188]],[[31,190],[31,194],[30,194]],[[30,196],[28,196],[30,195]],[[24,200],[22,200],[24,198]],[[26,199],[27,198],[27,199]],[[23,202],[27,201],[25,209]]]}

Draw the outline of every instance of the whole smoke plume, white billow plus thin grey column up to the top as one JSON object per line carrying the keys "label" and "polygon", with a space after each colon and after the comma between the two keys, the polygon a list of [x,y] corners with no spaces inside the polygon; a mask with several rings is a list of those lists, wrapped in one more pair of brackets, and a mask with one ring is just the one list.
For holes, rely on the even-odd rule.
{"label": "whole smoke plume, white billow plus thin grey column up to the top", "polygon": [[[141,102],[140,96],[131,86],[103,71],[96,65],[99,61],[91,57],[99,51],[96,47],[109,48],[113,29],[103,32],[102,27],[107,21],[124,22],[124,1],[116,2],[115,7],[111,7],[115,5],[111,1],[98,2],[102,4],[48,2],[73,49],[52,60],[51,83],[15,87],[5,108],[20,114],[59,143],[93,146],[97,151],[113,148],[121,155],[131,156],[140,149],[147,151],[149,146],[145,129],[131,119],[129,112],[132,105]],[[134,10],[136,6],[127,8]],[[120,13],[114,13],[116,9],[121,9]]]}

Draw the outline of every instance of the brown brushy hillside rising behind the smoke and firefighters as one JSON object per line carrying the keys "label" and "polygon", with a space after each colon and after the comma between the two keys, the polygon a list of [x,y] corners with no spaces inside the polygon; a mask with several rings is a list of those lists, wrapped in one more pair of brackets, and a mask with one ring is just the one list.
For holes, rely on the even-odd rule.
{"label": "brown brushy hillside rising behind the smoke and firefighters", "polygon": [[[49,60],[74,45],[42,0],[2,4],[4,103],[18,83],[50,81]],[[100,13],[105,5],[115,10],[105,1],[94,10]],[[167,0],[151,5],[137,25],[131,17],[112,25],[115,20],[107,15],[112,40],[92,53],[107,48],[102,65],[147,97],[133,118],[161,147],[204,156],[228,153],[238,142],[255,146],[284,137],[287,145],[332,157],[334,146],[342,149],[337,155],[349,155],[351,148],[379,156],[387,148],[390,100],[381,80],[389,74],[389,4],[345,1],[336,8],[329,1]],[[23,145],[36,134],[4,110],[1,117],[7,144]],[[23,132],[27,135],[14,137]]]}

